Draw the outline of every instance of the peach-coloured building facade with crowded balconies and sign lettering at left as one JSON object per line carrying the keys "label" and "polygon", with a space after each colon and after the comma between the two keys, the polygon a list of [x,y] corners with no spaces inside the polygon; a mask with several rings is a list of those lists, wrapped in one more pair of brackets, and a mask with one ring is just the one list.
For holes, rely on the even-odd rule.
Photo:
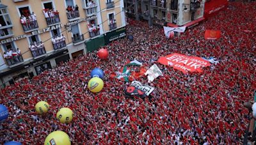
{"label": "peach-coloured building facade with crowded balconies and sign lettering at left", "polygon": [[91,52],[124,28],[122,0],[1,0],[0,85]]}

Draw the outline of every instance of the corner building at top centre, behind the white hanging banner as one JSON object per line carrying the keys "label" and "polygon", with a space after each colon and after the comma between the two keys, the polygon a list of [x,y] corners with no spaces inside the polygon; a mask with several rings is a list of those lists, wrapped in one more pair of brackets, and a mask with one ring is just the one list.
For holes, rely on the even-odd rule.
{"label": "corner building at top centre, behind the white hanging banner", "polygon": [[127,15],[153,24],[188,28],[204,20],[205,0],[125,0]]}

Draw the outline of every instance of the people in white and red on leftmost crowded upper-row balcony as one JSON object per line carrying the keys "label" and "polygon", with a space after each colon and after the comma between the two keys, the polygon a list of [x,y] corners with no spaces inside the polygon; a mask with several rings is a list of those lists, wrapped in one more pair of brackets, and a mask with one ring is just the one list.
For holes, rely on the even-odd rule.
{"label": "people in white and red on leftmost crowded upper-row balcony", "polygon": [[38,28],[35,13],[32,12],[30,15],[28,15],[26,17],[24,15],[22,15],[20,17],[20,24],[22,24],[24,31]]}

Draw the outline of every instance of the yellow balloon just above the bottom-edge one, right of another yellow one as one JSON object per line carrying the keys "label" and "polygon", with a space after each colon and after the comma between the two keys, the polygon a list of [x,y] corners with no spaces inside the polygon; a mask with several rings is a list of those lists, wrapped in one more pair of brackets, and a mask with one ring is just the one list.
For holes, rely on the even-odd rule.
{"label": "yellow balloon just above the bottom-edge one, right of another yellow one", "polygon": [[70,123],[73,119],[73,111],[68,107],[63,107],[58,111],[56,117],[61,123]]}

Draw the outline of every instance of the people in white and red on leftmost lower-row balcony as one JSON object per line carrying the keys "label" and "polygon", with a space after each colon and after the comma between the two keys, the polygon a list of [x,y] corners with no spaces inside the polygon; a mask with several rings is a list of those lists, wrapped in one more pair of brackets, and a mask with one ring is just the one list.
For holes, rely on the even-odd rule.
{"label": "people in white and red on leftmost lower-row balcony", "polygon": [[4,59],[8,66],[12,66],[13,64],[23,61],[19,48],[17,48],[17,51],[13,51],[11,48],[8,48],[7,52],[4,52]]}

